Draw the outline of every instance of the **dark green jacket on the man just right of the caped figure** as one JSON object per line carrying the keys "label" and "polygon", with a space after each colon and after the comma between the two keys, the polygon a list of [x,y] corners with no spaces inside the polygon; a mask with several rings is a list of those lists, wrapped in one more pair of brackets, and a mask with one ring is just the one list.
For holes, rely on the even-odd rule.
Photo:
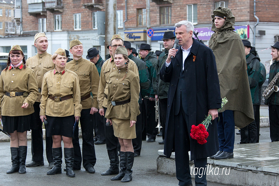
{"label": "dark green jacket on the man just right of the caped figure", "polygon": [[253,105],[256,105],[261,101],[259,97],[260,58],[250,53],[246,56],[246,63],[252,102]]}

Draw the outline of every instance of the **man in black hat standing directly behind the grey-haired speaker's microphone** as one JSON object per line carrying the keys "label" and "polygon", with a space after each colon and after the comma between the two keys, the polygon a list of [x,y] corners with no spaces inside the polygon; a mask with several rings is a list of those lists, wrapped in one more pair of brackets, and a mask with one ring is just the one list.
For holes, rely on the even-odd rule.
{"label": "man in black hat standing directly behind the grey-haired speaker's microphone", "polygon": [[162,128],[160,129],[160,133],[162,132],[163,141],[158,142],[159,144],[164,144],[165,139],[165,127],[166,127],[166,119],[167,119],[167,107],[168,107],[168,91],[169,91],[169,83],[165,83],[159,78],[159,73],[161,68],[164,66],[164,63],[167,60],[169,50],[173,48],[175,35],[173,31],[166,31],[162,38],[165,50],[163,53],[159,55],[158,62],[155,66],[154,76],[153,76],[153,89],[155,94],[155,99],[159,101],[159,117]]}

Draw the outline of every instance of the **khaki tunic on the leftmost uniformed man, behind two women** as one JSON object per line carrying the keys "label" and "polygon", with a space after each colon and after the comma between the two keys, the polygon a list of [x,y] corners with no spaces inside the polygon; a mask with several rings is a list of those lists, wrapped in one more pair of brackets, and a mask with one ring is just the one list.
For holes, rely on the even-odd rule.
{"label": "khaki tunic on the leftmost uniformed man, behind two women", "polygon": [[[26,66],[32,68],[35,73],[38,88],[42,88],[43,75],[45,75],[46,72],[53,70],[55,67],[51,57],[51,54],[44,52],[41,54],[37,53],[37,55],[26,60]],[[39,93],[38,99],[36,101],[40,102],[40,100],[41,93]]]}

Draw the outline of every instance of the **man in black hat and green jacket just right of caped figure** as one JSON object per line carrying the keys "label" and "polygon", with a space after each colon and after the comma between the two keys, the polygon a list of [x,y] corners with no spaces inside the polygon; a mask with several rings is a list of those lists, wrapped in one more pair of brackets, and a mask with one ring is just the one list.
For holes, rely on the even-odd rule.
{"label": "man in black hat and green jacket just right of caped figure", "polygon": [[[259,96],[259,81],[260,75],[260,58],[250,53],[252,48],[250,41],[242,40],[247,63],[247,74],[250,85],[250,92],[253,102],[254,116],[256,112],[256,104],[259,104],[261,97]],[[256,121],[252,121],[249,125],[240,129],[240,144],[256,143],[257,142],[257,125]]]}

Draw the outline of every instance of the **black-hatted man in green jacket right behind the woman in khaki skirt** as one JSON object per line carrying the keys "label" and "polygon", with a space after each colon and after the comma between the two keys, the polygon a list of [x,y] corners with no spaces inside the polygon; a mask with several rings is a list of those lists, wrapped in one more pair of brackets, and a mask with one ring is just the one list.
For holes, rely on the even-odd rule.
{"label": "black-hatted man in green jacket right behind the woman in khaki skirt", "polygon": [[147,94],[150,80],[148,79],[148,71],[144,61],[140,60],[139,58],[133,56],[132,54],[132,47],[130,41],[124,41],[124,46],[127,48],[128,58],[133,60],[136,65],[137,69],[139,70],[139,85],[140,85],[140,92],[139,92],[139,111],[141,112],[137,116],[137,125],[136,125],[136,136],[137,138],[132,139],[135,157],[140,155],[140,151],[142,149],[142,98]]}

